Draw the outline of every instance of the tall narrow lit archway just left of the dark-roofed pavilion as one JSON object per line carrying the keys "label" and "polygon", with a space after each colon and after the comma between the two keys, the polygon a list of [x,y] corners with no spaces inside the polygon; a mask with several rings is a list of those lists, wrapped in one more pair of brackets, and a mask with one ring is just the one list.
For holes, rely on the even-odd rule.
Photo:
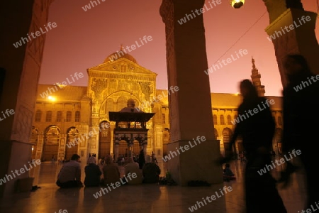
{"label": "tall narrow lit archway just left of the dark-roofed pavilion", "polygon": [[99,132],[99,158],[106,157],[111,153],[111,128],[106,128],[110,126],[110,122],[101,121]]}

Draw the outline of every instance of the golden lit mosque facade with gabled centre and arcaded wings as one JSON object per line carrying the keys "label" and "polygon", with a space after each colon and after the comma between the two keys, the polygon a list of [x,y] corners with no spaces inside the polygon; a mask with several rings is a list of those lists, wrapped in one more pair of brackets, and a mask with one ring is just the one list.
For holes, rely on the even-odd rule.
{"label": "golden lit mosque facade with gabled centre and arcaded wings", "polygon": [[[135,107],[145,112],[154,112],[155,116],[147,122],[147,151],[157,155],[157,159],[167,155],[167,144],[171,140],[169,103],[167,90],[156,89],[156,75],[154,72],[140,67],[134,59],[128,57],[118,60],[106,60],[101,65],[87,70],[89,77],[88,87],[67,86],[60,89],[59,97],[55,102],[38,96],[33,118],[33,134],[30,141],[33,146],[33,157],[41,160],[51,160],[45,145],[50,142],[50,126],[58,129],[55,160],[68,160],[70,154],[77,153],[82,157],[88,157],[89,153],[96,153],[98,157],[114,155],[114,122],[109,121],[109,111],[120,111],[127,107],[128,99],[135,100]],[[39,85],[39,88],[46,88]],[[41,91],[41,89],[38,89]],[[178,92],[178,91],[177,91]],[[70,94],[72,94],[70,96]],[[55,95],[55,94],[52,94]],[[155,97],[161,98],[154,99]],[[74,100],[70,100],[73,97]],[[280,136],[282,129],[281,97],[268,97],[274,99],[272,106],[273,116],[276,121],[276,136],[274,137],[273,149],[276,153],[280,151]],[[225,154],[225,146],[228,146],[233,136],[234,119],[237,118],[237,106],[241,97],[237,94],[211,94],[213,124],[216,139],[220,140],[220,152]],[[37,111],[41,111],[40,121]],[[52,119],[47,120],[47,111],[52,111]],[[60,111],[60,116],[58,115]],[[67,113],[71,112],[71,120]],[[80,119],[75,118],[76,111]],[[234,123],[234,124],[233,124]],[[103,124],[103,125],[101,125]],[[196,124],[194,124],[196,125]],[[107,128],[101,128],[107,126]],[[73,128],[73,129],[72,129]],[[72,130],[72,132],[70,132]],[[78,143],[74,143],[74,139]],[[73,141],[73,142],[72,142]],[[75,140],[76,142],[77,140]],[[118,153],[125,155],[125,142],[120,144]],[[75,144],[75,145],[74,145]],[[69,145],[69,146],[68,146]],[[52,146],[53,148],[54,146]],[[138,147],[134,153],[138,154]],[[242,151],[240,139],[233,147],[236,153]],[[46,153],[45,153],[46,152]],[[50,159],[48,159],[50,157]]]}

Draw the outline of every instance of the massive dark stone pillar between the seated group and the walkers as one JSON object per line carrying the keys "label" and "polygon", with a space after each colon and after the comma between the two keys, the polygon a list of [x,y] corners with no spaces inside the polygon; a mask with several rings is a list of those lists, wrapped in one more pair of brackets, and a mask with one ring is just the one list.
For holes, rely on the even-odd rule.
{"label": "massive dark stone pillar between the seated group and the walkers", "polygon": [[[220,148],[213,133],[209,78],[204,73],[208,62],[203,16],[178,22],[201,9],[204,2],[163,0],[160,8],[166,30],[168,87],[179,88],[169,95],[171,141],[167,148],[172,158],[167,163],[172,178],[184,186],[191,180],[223,182],[222,168],[216,165]],[[194,146],[193,138],[198,136],[206,140]],[[184,152],[178,153],[180,147]]]}

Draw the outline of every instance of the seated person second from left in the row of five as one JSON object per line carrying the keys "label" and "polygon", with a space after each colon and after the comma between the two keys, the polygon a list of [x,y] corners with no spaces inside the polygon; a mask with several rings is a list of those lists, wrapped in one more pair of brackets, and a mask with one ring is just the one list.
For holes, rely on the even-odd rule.
{"label": "seated person second from left in the row of five", "polygon": [[85,171],[85,179],[84,185],[86,187],[96,187],[101,183],[101,170],[99,165],[96,165],[96,158],[90,157],[88,160],[89,165],[86,165],[84,168]]}

